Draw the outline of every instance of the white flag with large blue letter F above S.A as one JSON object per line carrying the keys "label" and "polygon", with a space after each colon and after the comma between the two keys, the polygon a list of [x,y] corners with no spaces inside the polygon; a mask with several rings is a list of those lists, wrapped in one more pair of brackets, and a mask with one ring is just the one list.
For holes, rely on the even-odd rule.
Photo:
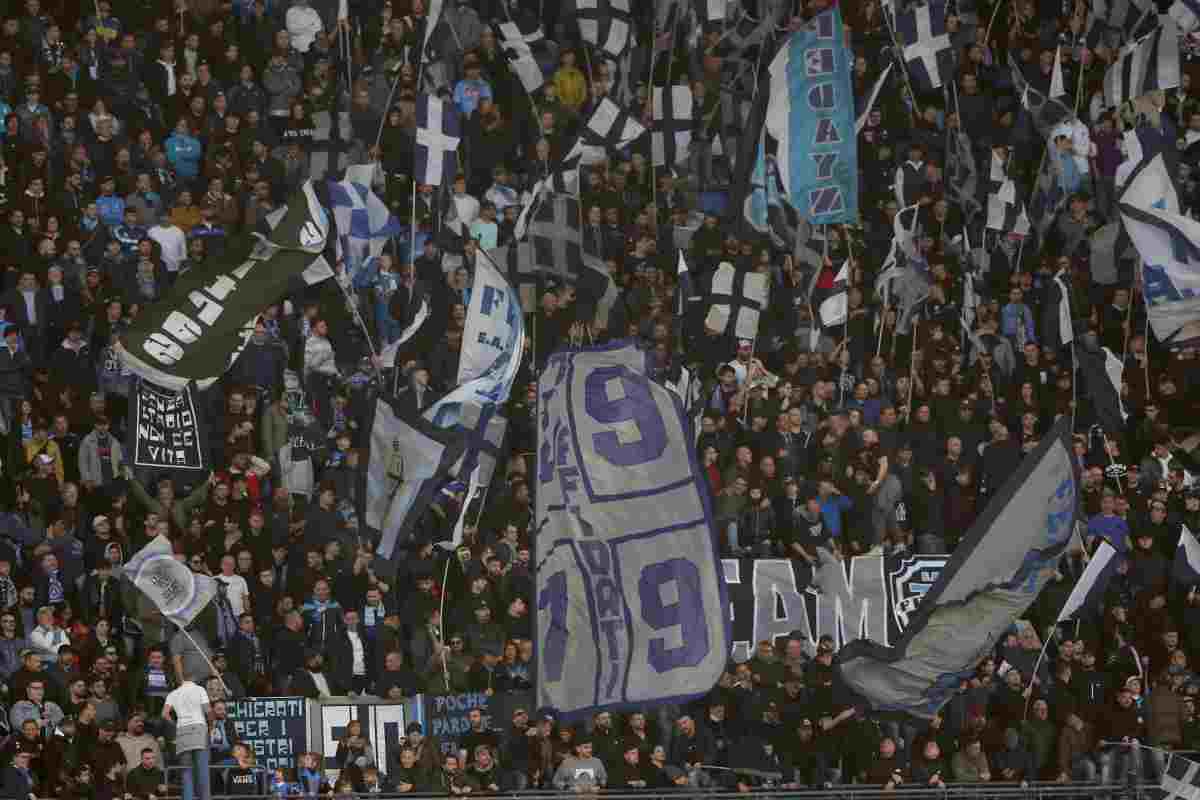
{"label": "white flag with large blue letter F above S.A", "polygon": [[508,395],[516,380],[524,351],[524,314],[521,296],[504,279],[497,264],[484,251],[475,252],[475,279],[462,331],[458,355],[460,385],[498,371]]}

